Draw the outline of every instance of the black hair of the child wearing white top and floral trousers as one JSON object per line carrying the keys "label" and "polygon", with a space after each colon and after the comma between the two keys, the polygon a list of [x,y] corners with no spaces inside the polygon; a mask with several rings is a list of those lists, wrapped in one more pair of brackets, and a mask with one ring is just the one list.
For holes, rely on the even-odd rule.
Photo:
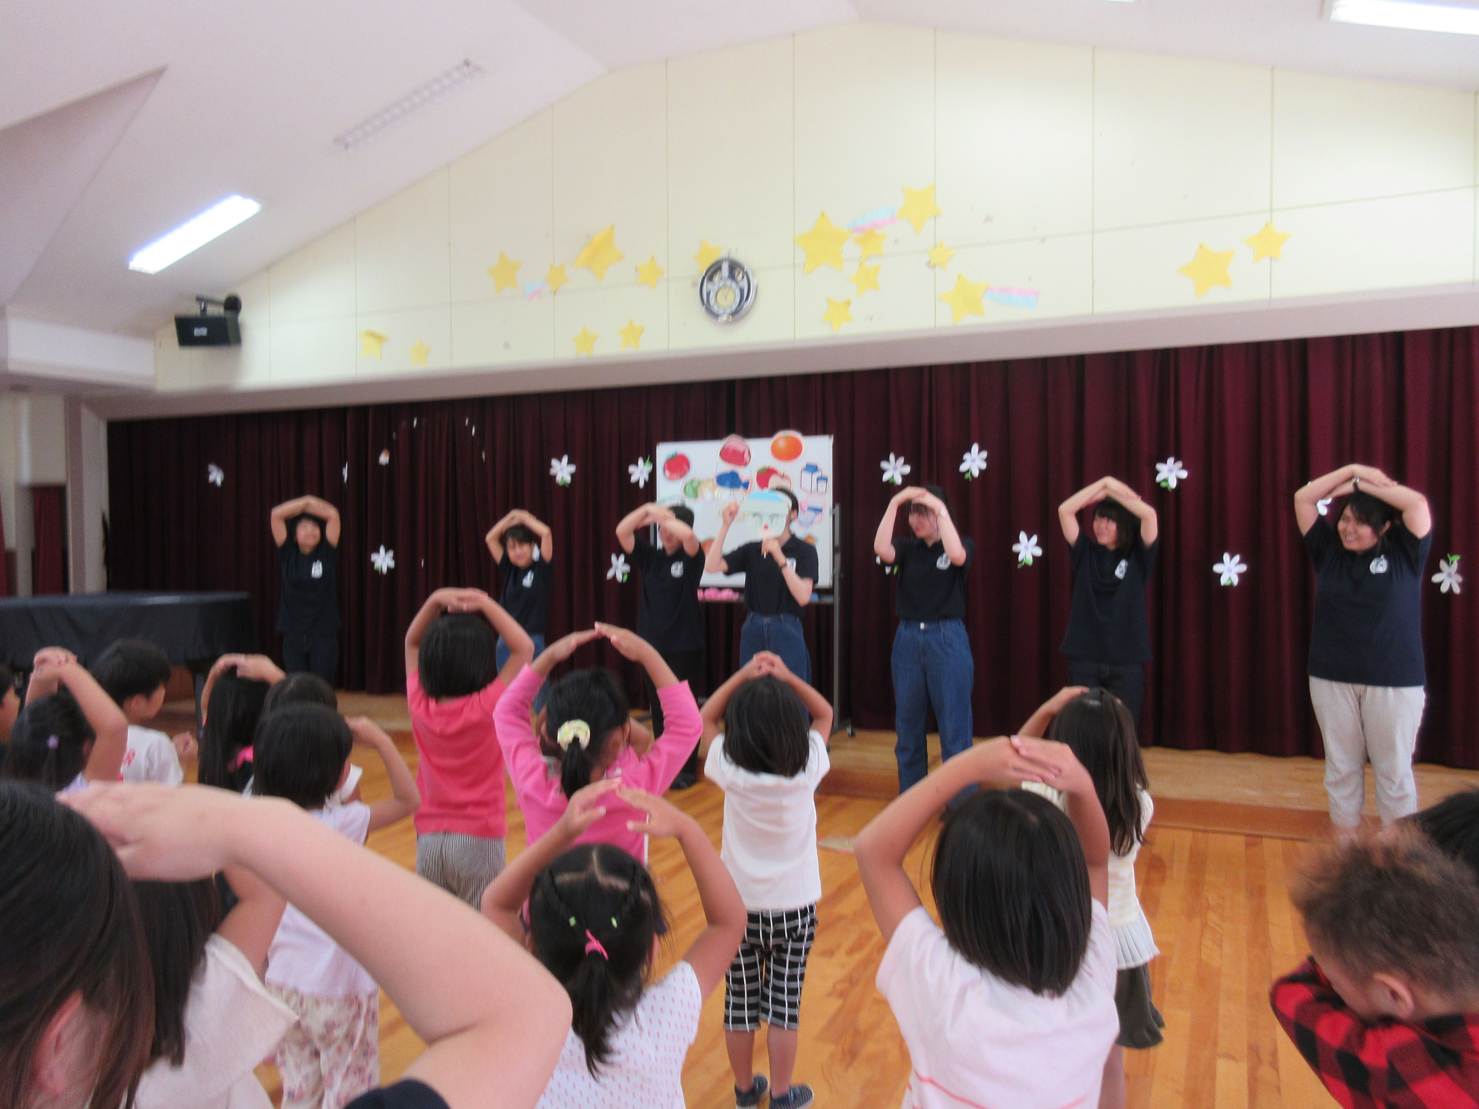
{"label": "black hair of the child wearing white top and floral trousers", "polygon": [[322,809],[345,776],[353,750],[349,725],[324,705],[285,705],[262,717],[253,750],[251,793]]}

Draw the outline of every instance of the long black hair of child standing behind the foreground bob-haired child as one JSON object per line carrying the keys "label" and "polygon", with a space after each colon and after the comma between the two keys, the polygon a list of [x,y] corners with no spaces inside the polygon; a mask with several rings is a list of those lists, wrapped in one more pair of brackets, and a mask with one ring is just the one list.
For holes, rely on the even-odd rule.
{"label": "long black hair of child standing behind the foreground bob-haired child", "polygon": [[1140,790],[1149,790],[1151,779],[1124,701],[1108,689],[1090,689],[1063,705],[1047,738],[1068,744],[1089,770],[1109,824],[1109,846],[1115,855],[1128,855],[1145,838]]}

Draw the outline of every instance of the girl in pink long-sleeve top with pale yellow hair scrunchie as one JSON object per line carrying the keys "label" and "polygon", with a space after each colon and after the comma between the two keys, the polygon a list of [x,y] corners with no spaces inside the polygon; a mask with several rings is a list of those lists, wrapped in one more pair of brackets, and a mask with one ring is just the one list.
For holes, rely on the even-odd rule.
{"label": "girl in pink long-sleeve top with pale yellow hair scrunchie", "polygon": [[[664,729],[646,754],[632,750],[627,698],[615,676],[600,667],[575,670],[552,685],[538,736],[529,725],[534,695],[550,670],[569,658],[575,648],[599,637],[605,637],[626,658],[640,662],[657,686]],[[688,683],[674,677],[651,643],[611,624],[596,624],[590,631],[575,631],[553,643],[513,679],[494,708],[493,720],[524,810],[529,843],[555,827],[577,790],[600,778],[620,775],[627,788],[666,793],[704,730]],[[553,766],[546,763],[544,751],[559,762]],[[608,796],[605,804],[606,815],[575,841],[609,843],[645,862],[646,837],[627,828],[627,821],[640,824],[645,819],[642,812],[615,796]]]}

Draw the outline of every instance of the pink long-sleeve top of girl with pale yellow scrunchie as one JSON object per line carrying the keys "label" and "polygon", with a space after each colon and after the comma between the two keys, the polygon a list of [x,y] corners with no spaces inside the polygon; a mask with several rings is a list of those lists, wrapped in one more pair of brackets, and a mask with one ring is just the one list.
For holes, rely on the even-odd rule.
{"label": "pink long-sleeve top of girl with pale yellow scrunchie", "polygon": [[[503,744],[503,757],[509,764],[509,778],[513,779],[513,793],[519,807],[524,809],[524,828],[529,843],[553,828],[569,803],[559,788],[559,773],[549,772],[540,753],[540,741],[529,725],[529,707],[543,682],[538,673],[524,667],[493,711],[494,723],[498,726],[498,742]],[[688,682],[658,689],[657,695],[663,701],[661,738],[640,757],[627,747],[621,757],[606,767],[606,776],[620,775],[634,790],[661,794],[667,793],[667,787],[673,784],[688,756],[698,745],[704,722],[698,716],[698,702],[694,701]],[[590,825],[577,843],[609,843],[646,862],[646,837],[627,830],[627,821],[645,821],[646,813],[614,796],[608,796],[602,803],[606,806],[606,815]]]}

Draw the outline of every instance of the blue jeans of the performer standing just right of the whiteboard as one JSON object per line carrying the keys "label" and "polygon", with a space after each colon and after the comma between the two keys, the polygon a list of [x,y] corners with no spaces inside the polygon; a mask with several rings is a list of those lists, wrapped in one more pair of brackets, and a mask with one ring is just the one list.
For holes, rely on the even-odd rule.
{"label": "blue jeans of the performer standing just right of the whiteboard", "polygon": [[899,762],[899,793],[929,772],[924,723],[930,708],[939,725],[941,759],[970,750],[975,682],[976,664],[963,623],[899,621],[893,636],[893,726],[899,733],[893,756]]}

